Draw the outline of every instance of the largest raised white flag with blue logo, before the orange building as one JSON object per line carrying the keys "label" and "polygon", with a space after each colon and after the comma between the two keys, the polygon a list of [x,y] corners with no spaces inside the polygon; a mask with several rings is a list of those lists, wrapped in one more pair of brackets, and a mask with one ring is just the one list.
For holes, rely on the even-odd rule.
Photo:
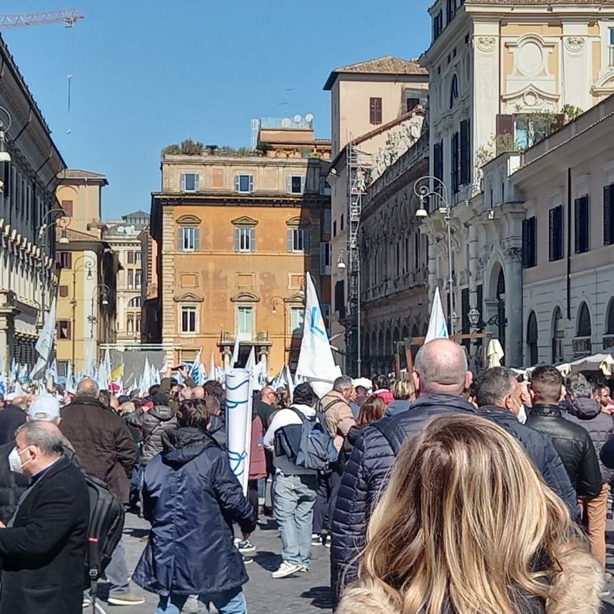
{"label": "largest raised white flag with blue logo, before the orange building", "polygon": [[309,381],[313,386],[313,391],[322,398],[333,388],[333,381],[341,375],[341,369],[335,364],[333,358],[316,286],[313,286],[309,272],[306,274],[306,281],[307,298],[303,321],[303,339],[301,341],[301,353],[298,355],[296,376]]}

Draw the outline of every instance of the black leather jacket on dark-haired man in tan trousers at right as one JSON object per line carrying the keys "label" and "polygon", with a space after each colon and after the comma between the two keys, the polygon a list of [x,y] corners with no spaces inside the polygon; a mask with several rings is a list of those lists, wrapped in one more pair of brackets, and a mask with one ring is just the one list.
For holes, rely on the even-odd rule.
{"label": "black leather jacket on dark-haired man in tan trousers at right", "polygon": [[563,418],[556,405],[535,405],[527,425],[550,436],[578,497],[596,497],[601,492],[601,470],[588,431]]}

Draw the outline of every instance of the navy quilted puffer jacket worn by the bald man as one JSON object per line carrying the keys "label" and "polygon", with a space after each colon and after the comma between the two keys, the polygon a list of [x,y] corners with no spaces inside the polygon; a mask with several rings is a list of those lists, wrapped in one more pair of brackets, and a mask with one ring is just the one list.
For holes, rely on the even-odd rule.
{"label": "navy quilted puffer jacket worn by the bald man", "polygon": [[[412,403],[410,411],[390,418],[415,437],[431,418],[450,413],[475,415],[475,408],[458,396],[426,394]],[[333,600],[344,584],[356,578],[358,554],[364,548],[366,528],[377,495],[394,461],[390,444],[377,428],[368,426],[358,437],[341,477],[331,526],[331,586]],[[345,575],[344,575],[345,574]]]}

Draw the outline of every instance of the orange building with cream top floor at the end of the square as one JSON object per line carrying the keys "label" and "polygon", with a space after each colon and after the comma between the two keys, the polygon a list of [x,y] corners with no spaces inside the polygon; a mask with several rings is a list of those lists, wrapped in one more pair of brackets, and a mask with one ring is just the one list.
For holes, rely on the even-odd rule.
{"label": "orange building with cream top floor at the end of the square", "polygon": [[[313,157],[163,155],[152,194],[161,341],[228,366],[255,348],[269,373],[296,364],[309,271],[328,311],[328,163]],[[153,263],[152,263],[153,264]],[[168,351],[167,351],[168,353]]]}

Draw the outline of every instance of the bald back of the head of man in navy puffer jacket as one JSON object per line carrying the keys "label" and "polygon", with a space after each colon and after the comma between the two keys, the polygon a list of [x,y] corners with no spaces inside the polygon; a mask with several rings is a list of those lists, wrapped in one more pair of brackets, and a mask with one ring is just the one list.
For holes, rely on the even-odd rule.
{"label": "bald back of the head of man in navy puffer jacket", "polygon": [[465,349],[449,339],[433,339],[416,354],[414,363],[425,393],[460,394],[467,376]]}

